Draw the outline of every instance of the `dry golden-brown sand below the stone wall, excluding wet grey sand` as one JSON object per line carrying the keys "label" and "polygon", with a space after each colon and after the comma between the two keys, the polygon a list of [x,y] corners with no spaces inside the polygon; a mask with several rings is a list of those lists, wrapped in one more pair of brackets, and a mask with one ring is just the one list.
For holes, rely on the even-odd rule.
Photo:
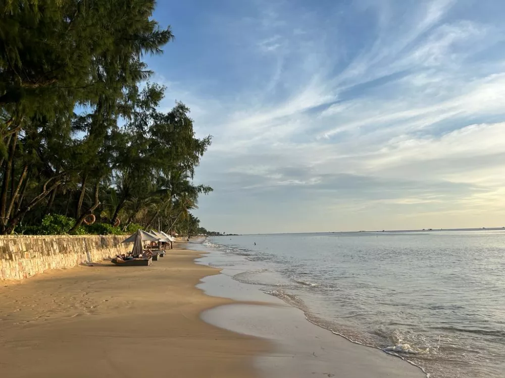
{"label": "dry golden-brown sand below the stone wall, excluding wet grey sand", "polygon": [[195,288],[214,268],[173,249],[149,267],[94,264],[0,287],[0,376],[254,377],[267,341],[200,320],[233,300]]}

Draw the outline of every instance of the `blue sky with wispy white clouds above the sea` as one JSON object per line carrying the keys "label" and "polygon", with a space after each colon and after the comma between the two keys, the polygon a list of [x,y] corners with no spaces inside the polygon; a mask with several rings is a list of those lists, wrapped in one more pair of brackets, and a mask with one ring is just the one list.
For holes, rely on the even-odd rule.
{"label": "blue sky with wispy white clouds above the sea", "polygon": [[505,2],[159,0],[163,109],[213,136],[201,225],[505,226]]}

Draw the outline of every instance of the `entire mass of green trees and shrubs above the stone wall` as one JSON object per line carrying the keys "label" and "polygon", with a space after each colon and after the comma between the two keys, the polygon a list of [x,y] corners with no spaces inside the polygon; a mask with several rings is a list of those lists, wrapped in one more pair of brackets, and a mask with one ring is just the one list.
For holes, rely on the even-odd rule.
{"label": "entire mass of green trees and shrubs above the stone wall", "polygon": [[196,232],[211,137],[182,102],[160,111],[165,88],[146,83],[143,56],[173,38],[155,3],[0,2],[0,234],[120,234],[118,219]]}

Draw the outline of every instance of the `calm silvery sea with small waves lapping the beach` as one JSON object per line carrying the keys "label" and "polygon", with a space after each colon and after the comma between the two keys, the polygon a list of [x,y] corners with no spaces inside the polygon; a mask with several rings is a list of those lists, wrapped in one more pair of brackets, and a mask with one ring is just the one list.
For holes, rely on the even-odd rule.
{"label": "calm silvery sea with small waves lapping the beach", "polygon": [[430,378],[505,377],[505,231],[222,236],[204,244],[235,280]]}

